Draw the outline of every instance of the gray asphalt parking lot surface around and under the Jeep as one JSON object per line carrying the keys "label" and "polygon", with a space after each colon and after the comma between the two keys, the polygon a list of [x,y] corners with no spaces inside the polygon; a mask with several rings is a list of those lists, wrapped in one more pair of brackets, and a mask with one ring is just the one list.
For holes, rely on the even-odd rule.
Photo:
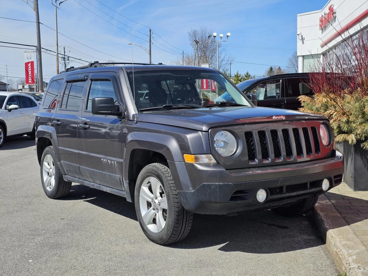
{"label": "gray asphalt parking lot surface around and under the Jeep", "polygon": [[195,215],[189,236],[160,246],[134,204],[72,185],[46,197],[34,141],[0,148],[0,275],[337,275],[309,216]]}

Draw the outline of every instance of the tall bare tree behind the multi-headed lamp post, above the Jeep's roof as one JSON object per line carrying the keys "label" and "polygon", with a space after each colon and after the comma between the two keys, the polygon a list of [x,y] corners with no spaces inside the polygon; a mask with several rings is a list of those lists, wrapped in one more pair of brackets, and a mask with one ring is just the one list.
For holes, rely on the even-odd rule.
{"label": "tall bare tree behind the multi-headed lamp post, above the Jeep's roof", "polygon": [[[191,29],[188,32],[189,43],[192,46],[192,51],[185,53],[184,65],[198,65],[208,63],[210,67],[217,67],[217,43],[208,41],[208,35],[212,33],[212,30],[202,26],[199,29]],[[197,41],[197,42],[195,42]],[[198,43],[198,53],[197,53]],[[223,43],[219,43],[219,70],[224,71],[229,67],[230,61],[233,61],[234,57],[226,50],[226,46]],[[177,59],[176,64],[182,64],[181,57]]]}

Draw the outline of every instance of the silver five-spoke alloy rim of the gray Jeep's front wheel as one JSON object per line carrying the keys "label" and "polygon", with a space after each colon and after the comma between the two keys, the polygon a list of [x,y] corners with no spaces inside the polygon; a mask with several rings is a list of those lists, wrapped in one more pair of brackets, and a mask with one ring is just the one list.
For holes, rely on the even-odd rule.
{"label": "silver five-spoke alloy rim of the gray Jeep's front wheel", "polygon": [[139,207],[144,223],[154,233],[161,232],[167,221],[167,198],[163,185],[155,177],[147,177],[139,192]]}

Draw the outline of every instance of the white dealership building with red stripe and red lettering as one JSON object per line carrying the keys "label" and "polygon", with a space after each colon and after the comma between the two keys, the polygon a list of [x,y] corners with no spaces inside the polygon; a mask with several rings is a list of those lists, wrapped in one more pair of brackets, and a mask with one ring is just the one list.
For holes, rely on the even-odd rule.
{"label": "white dealership building with red stripe and red lettering", "polygon": [[367,27],[368,0],[330,0],[321,10],[298,14],[298,71],[315,71],[324,59],[348,52]]}

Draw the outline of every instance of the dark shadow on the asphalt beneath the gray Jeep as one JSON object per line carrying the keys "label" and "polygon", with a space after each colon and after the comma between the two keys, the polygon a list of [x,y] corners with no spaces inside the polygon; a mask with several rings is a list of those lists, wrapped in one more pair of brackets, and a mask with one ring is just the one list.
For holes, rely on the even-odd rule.
{"label": "dark shadow on the asphalt beneath the gray Jeep", "polygon": [[[137,220],[134,204],[125,198],[83,185],[72,185],[64,200],[80,200],[118,215]],[[194,249],[219,246],[224,252],[272,254],[323,245],[322,236],[309,215],[282,217],[271,210],[242,212],[237,216],[198,215],[188,237],[172,248]]]}

